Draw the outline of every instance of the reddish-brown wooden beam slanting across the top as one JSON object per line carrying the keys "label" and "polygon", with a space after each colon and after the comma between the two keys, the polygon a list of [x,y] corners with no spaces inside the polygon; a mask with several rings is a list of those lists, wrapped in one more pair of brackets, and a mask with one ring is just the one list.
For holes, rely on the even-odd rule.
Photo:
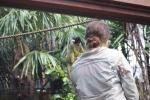
{"label": "reddish-brown wooden beam slanting across the top", "polygon": [[150,24],[149,0],[0,0],[0,6]]}

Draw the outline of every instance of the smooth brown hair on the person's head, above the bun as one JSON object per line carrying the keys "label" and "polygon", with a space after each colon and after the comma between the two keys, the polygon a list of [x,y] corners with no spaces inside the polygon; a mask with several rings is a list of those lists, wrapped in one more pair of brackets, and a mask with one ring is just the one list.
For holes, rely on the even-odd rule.
{"label": "smooth brown hair on the person's head, above the bun", "polygon": [[85,38],[90,36],[98,36],[102,42],[106,42],[109,39],[109,28],[106,24],[100,21],[92,21],[86,27]]}

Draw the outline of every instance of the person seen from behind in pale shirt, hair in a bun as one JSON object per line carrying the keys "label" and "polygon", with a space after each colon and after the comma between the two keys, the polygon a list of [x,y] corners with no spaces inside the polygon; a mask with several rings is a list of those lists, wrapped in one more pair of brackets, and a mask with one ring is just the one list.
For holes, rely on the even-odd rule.
{"label": "person seen from behind in pale shirt, hair in a bun", "polygon": [[104,23],[87,25],[88,50],[71,68],[78,100],[139,100],[131,67],[121,52],[108,48],[109,35]]}

